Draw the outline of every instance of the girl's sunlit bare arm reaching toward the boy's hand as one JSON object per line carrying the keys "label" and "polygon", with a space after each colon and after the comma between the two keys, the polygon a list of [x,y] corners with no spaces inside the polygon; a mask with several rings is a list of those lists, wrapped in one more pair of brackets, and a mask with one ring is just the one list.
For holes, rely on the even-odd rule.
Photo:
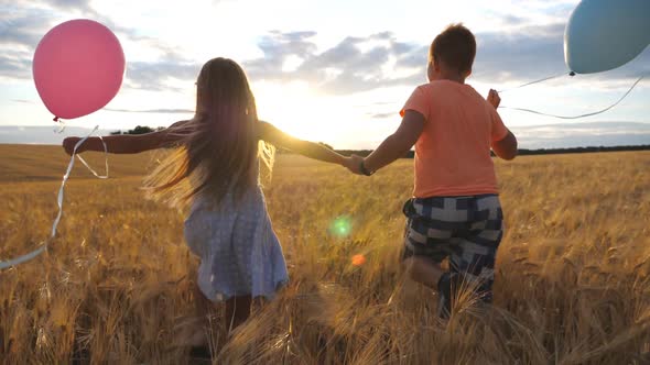
{"label": "girl's sunlit bare arm reaching toward the boy's hand", "polygon": [[296,137],[293,137],[280,131],[271,123],[262,121],[260,121],[259,123],[259,139],[269,142],[278,147],[291,150],[297,154],[301,154],[310,158],[323,161],[331,164],[337,164],[345,167],[347,167],[350,163],[349,157],[340,155],[319,143],[302,141]]}

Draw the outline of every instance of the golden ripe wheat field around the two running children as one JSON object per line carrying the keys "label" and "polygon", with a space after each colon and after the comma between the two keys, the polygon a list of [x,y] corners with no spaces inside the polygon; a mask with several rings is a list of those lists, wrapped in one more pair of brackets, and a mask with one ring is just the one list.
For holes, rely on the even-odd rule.
{"label": "golden ripe wheat field around the two running children", "polygon": [[[0,154],[7,259],[47,237],[66,156]],[[649,152],[497,162],[507,232],[495,305],[461,298],[448,322],[399,266],[411,161],[367,178],[279,156],[264,184],[291,284],[231,336],[220,306],[196,318],[207,303],[183,213],[140,190],[161,157],[110,156],[108,180],[76,166],[48,252],[0,272],[2,363],[183,364],[184,341],[202,331],[217,364],[650,363]],[[332,230],[342,221],[347,234]]]}

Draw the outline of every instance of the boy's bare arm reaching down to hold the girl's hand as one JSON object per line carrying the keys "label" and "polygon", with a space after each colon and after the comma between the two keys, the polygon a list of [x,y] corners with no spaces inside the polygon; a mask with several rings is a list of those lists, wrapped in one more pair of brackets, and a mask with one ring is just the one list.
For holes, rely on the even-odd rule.
{"label": "boy's bare arm reaching down to hold the girl's hand", "polygon": [[[400,128],[386,139],[362,163],[367,172],[376,172],[389,165],[396,159],[403,157],[409,150],[418,142],[424,129],[424,115],[414,110],[407,110]],[[359,166],[355,168],[360,170]],[[359,170],[356,170],[359,173]]]}

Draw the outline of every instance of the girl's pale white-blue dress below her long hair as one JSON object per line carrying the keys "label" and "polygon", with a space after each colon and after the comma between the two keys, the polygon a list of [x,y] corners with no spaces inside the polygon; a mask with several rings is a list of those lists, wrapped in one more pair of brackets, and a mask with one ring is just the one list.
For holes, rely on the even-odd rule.
{"label": "girl's pale white-blue dress below her long hair", "polygon": [[198,287],[210,300],[232,296],[271,299],[289,281],[259,186],[241,199],[229,192],[217,207],[197,198],[185,220],[185,240],[201,257]]}

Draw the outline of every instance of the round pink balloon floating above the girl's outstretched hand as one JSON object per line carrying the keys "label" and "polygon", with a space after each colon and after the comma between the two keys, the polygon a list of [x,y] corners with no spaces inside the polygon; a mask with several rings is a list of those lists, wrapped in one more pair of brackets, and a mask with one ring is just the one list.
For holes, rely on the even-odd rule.
{"label": "round pink balloon floating above the girl's outstretched hand", "polygon": [[124,67],[117,36],[98,22],[78,19],[45,34],[32,71],[41,99],[57,120],[104,108],[118,93]]}

